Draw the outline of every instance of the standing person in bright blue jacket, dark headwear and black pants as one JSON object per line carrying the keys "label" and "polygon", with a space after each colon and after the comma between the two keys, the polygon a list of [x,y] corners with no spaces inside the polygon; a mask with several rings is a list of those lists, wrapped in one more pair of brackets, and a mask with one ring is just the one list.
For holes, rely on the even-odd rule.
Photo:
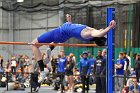
{"label": "standing person in bright blue jacket, dark headwear and black pants", "polygon": [[[80,59],[79,66],[80,66],[79,70],[80,70],[81,80],[82,80],[82,84],[83,84],[82,93],[85,93],[85,90],[87,90],[87,93],[88,93],[91,65],[90,65],[90,61],[88,59],[87,51],[82,53],[82,58]],[[85,88],[85,85],[87,86],[87,88]]]}

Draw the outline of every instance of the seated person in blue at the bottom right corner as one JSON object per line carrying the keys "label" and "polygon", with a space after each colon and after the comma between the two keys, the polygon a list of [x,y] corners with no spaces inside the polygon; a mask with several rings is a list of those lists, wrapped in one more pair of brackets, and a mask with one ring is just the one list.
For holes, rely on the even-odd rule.
{"label": "seated person in blue at the bottom right corner", "polygon": [[129,87],[129,93],[140,93],[140,85],[138,85],[137,79],[132,79],[133,85]]}

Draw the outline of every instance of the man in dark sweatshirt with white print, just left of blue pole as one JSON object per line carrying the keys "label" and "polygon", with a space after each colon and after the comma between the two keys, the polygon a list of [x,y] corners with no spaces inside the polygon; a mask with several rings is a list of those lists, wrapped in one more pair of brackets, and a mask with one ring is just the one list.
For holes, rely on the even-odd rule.
{"label": "man in dark sweatshirt with white print, just left of blue pole", "polygon": [[[102,80],[102,75],[104,75],[104,64],[105,59],[102,56],[102,51],[98,50],[98,55],[94,64],[94,74],[96,77],[96,93],[106,93],[104,81]],[[100,77],[101,75],[101,77]]]}

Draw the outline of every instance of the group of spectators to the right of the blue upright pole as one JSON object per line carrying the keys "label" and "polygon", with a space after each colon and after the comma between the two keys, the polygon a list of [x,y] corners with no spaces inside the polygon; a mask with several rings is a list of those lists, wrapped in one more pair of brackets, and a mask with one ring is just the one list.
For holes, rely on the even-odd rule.
{"label": "group of spectators to the right of the blue upright pole", "polygon": [[118,93],[140,93],[140,54],[133,56],[134,67],[131,67],[131,58],[126,52],[120,52],[115,61],[115,91]]}

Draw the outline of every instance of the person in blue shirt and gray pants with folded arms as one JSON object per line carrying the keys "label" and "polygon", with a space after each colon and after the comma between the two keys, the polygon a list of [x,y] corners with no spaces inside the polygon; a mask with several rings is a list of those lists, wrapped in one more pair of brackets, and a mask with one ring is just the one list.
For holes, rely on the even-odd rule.
{"label": "person in blue shirt and gray pants with folded arms", "polygon": [[[115,69],[116,69],[116,75],[117,76],[124,76],[124,59],[123,59],[123,53],[119,53],[119,58],[117,59],[115,63]],[[124,79],[122,77],[116,77],[115,78],[115,91],[121,92],[124,85]]]}

